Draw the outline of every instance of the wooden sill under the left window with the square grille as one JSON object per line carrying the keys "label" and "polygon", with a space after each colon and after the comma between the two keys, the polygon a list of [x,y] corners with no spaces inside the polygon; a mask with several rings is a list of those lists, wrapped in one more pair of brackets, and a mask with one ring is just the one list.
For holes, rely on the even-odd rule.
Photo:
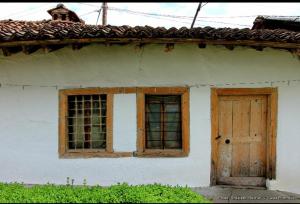
{"label": "wooden sill under the left window with the square grille", "polygon": [[75,159],[75,158],[118,158],[118,157],[132,157],[132,152],[106,152],[106,151],[72,151],[60,154],[60,159]]}

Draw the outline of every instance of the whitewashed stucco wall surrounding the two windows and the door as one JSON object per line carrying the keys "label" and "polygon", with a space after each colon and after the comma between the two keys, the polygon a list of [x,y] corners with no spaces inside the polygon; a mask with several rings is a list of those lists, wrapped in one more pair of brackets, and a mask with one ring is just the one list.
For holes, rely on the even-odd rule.
{"label": "whitewashed stucco wall surrounding the two windows and the door", "polygon": [[[229,51],[197,45],[63,48],[44,54],[0,56],[0,181],[110,185],[163,183],[208,186],[210,86],[279,87],[277,179],[271,189],[300,193],[300,61],[286,51]],[[239,83],[246,84],[239,84]],[[262,83],[256,83],[262,82]],[[236,83],[236,85],[224,85]],[[251,84],[253,83],[253,84]],[[8,86],[13,84],[32,86]],[[223,85],[222,85],[223,84]],[[116,86],[191,86],[190,155],[186,158],[58,158],[58,89]],[[114,148],[135,151],[134,94],[114,99]]]}

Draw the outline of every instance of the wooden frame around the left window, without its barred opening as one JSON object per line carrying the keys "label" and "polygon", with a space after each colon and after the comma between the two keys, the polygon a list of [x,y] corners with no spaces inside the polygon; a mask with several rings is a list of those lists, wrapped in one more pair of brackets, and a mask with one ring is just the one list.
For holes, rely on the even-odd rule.
{"label": "wooden frame around the left window, without its barred opening", "polygon": [[[130,157],[132,152],[114,152],[113,150],[113,98],[116,93],[134,93],[136,88],[80,88],[59,90],[59,140],[58,153],[60,158],[89,158],[89,157]],[[106,94],[106,149],[69,150],[67,146],[67,99],[71,95]]]}

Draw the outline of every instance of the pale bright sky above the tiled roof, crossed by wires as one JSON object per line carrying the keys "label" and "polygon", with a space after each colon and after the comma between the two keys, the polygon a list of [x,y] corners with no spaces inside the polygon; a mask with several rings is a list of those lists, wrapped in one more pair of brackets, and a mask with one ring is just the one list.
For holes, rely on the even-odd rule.
{"label": "pale bright sky above the tiled roof, crossed by wires", "polygon": [[[63,3],[86,24],[95,25],[102,3],[0,3],[0,20],[50,19],[48,9]],[[300,3],[202,3],[194,27],[251,28],[258,15],[300,16]],[[190,27],[198,3],[108,3],[110,25]],[[149,15],[149,13],[151,15]],[[102,23],[100,15],[98,24]]]}

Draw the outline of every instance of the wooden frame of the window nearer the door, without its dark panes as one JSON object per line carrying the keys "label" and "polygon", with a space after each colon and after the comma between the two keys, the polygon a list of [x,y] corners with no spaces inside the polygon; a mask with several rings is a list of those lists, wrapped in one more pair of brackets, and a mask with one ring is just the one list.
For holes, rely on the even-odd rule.
{"label": "wooden frame of the window nearer the door, without its dark panes", "polygon": [[[145,148],[145,95],[181,95],[182,149]],[[187,157],[190,151],[189,88],[187,87],[142,87],[137,88],[137,157]]]}

